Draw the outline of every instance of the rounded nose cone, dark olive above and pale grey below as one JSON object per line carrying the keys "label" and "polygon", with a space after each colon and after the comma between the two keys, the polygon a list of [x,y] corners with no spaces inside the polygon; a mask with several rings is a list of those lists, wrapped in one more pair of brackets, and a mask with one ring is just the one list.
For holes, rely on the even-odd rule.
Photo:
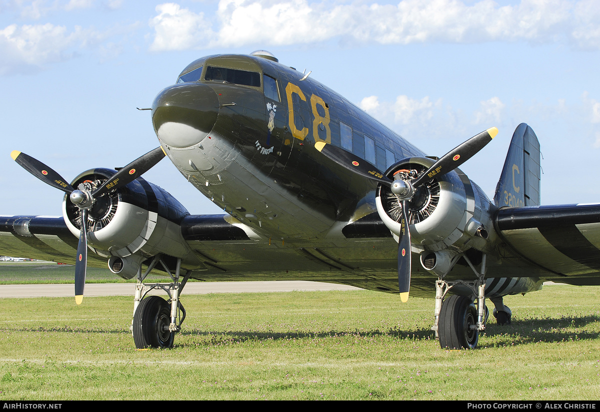
{"label": "rounded nose cone, dark olive above and pale grey below", "polygon": [[161,91],[152,103],[158,139],[171,147],[190,147],[208,136],[217,121],[219,100],[210,86],[181,83]]}

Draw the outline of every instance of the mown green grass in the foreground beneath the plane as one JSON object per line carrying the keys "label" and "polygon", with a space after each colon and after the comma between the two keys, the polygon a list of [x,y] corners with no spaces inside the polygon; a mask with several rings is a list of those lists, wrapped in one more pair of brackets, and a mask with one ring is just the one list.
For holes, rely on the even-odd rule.
{"label": "mown green grass in the foreground beneath the plane", "polygon": [[475,351],[439,347],[433,300],[371,291],[184,293],[175,348],[145,351],[131,297],[1,299],[0,399],[600,399],[599,295],[507,297]]}

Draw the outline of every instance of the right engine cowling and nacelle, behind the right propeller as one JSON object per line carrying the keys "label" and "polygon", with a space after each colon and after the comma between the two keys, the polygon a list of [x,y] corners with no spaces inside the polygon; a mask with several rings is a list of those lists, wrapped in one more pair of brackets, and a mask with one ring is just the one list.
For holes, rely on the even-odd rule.
{"label": "right engine cowling and nacelle, behind the right propeller", "polygon": [[[427,157],[411,157],[392,165],[385,175],[410,181],[433,163]],[[376,205],[383,223],[398,237],[400,198],[380,184]],[[490,215],[490,201],[485,193],[460,169],[455,169],[419,187],[413,195],[408,213],[412,245],[419,252],[449,252],[437,253],[440,258],[470,247],[489,250],[495,237]]]}

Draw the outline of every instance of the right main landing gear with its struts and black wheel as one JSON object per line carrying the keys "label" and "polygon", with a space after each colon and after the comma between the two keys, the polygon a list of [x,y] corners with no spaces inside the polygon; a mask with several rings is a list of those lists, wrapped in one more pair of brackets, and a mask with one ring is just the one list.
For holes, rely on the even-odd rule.
{"label": "right main landing gear with its struts and black wheel", "polygon": [[[485,256],[482,256],[479,271],[464,254],[455,256],[450,266],[453,267],[458,259],[463,257],[477,275],[477,280],[446,281],[443,280],[444,276],[440,276],[436,282],[436,320],[431,329],[436,332],[440,346],[444,349],[475,349],[479,341],[479,332],[485,330],[489,316],[485,306]],[[469,297],[452,295],[443,300],[448,291],[457,285],[467,286],[473,294]],[[473,301],[476,301],[476,304]]]}

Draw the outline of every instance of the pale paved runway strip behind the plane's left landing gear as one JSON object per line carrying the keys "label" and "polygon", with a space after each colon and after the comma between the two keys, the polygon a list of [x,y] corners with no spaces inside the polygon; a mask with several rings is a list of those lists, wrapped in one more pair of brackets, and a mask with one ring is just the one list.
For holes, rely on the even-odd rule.
{"label": "pale paved runway strip behind the plane's left landing gear", "polygon": [[[207,293],[242,292],[291,292],[291,291],[347,291],[359,290],[354,286],[335,285],[334,283],[304,282],[301,280],[274,280],[271,282],[190,282],[185,285],[182,295]],[[88,283],[84,295],[91,296],[131,296],[135,283]],[[75,286],[62,285],[0,285],[0,298],[23,297],[72,297]],[[164,294],[152,291],[151,294]]]}

